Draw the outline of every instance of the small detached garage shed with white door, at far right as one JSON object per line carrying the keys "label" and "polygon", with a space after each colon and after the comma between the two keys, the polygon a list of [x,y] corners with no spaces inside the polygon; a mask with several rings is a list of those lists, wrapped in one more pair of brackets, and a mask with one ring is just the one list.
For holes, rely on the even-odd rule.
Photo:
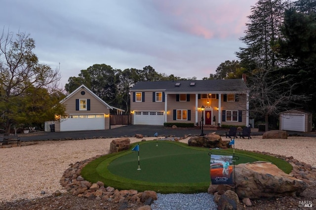
{"label": "small detached garage shed with white door, at far right", "polygon": [[303,110],[291,109],[280,113],[279,129],[283,131],[312,131],[312,113]]}

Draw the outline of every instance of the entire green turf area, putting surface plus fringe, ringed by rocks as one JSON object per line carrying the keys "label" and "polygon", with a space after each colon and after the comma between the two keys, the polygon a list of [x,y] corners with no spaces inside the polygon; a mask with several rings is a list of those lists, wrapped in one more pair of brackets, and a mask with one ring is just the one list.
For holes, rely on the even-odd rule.
{"label": "entire green turf area, putting surface plus fringe, ringed by rocks", "polygon": [[[130,150],[100,157],[85,166],[81,175],[90,182],[102,181],[106,186],[118,189],[154,190],[160,193],[206,192],[210,183],[209,152],[217,155],[233,155],[233,149],[209,150],[173,141],[143,141],[140,144],[140,168],[138,152]],[[268,161],[285,173],[292,167],[276,157],[254,152],[235,150],[239,157],[236,164]]]}

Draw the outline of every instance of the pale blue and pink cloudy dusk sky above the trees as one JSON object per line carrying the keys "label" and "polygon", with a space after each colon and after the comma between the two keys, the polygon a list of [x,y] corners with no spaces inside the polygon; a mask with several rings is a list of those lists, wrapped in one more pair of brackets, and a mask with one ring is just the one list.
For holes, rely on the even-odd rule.
{"label": "pale blue and pink cloudy dusk sky above the trees", "polygon": [[2,0],[4,32],[30,34],[62,87],[94,64],[209,77],[235,52],[257,0]]}

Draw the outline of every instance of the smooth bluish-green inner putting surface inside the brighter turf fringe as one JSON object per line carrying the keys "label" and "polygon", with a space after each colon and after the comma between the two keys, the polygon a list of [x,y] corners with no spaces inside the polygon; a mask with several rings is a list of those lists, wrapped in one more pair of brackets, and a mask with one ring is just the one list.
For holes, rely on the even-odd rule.
{"label": "smooth bluish-green inner putting surface inside the brighter turf fringe", "polygon": [[[140,169],[138,152],[121,156],[110,163],[108,170],[130,179],[154,182],[207,182],[210,180],[209,150],[192,149],[170,143],[149,141],[140,147]],[[218,151],[216,151],[218,152]],[[236,164],[254,162],[256,159],[243,157]]]}

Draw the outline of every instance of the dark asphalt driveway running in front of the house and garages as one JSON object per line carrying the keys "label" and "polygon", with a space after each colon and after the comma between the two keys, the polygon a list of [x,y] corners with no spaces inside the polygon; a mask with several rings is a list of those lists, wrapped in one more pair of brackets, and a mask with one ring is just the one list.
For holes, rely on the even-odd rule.
{"label": "dark asphalt driveway running in front of the house and garages", "polygon": [[[227,130],[228,131],[228,130]],[[135,134],[142,134],[143,136],[153,137],[155,133],[158,136],[174,136],[183,137],[184,135],[197,136],[201,134],[200,129],[194,128],[166,128],[163,126],[152,125],[127,125],[112,128],[109,130],[95,130],[95,131],[67,131],[67,132],[34,132],[26,135],[21,135],[22,141],[34,140],[74,140],[74,139],[93,139],[93,138],[120,138],[120,137],[134,137]],[[204,134],[216,132],[225,137],[226,130],[204,130]],[[263,135],[264,132],[252,132],[251,136]],[[313,136],[315,134],[303,132],[288,132],[289,135],[298,136]]]}

